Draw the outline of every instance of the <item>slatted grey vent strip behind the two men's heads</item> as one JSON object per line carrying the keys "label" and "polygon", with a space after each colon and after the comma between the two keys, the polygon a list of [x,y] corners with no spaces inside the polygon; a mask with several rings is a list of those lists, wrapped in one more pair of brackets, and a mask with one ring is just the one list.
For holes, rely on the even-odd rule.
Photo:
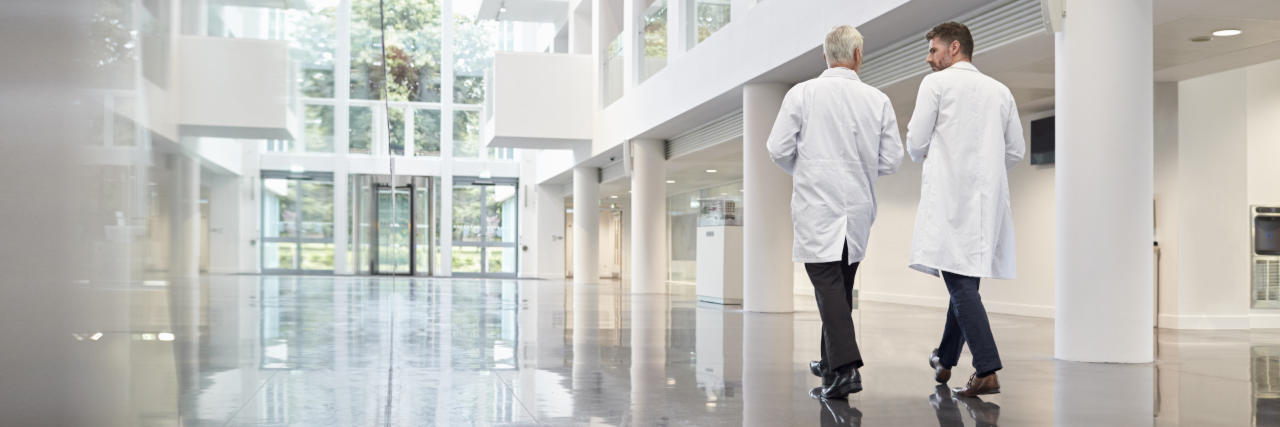
{"label": "slatted grey vent strip behind the two men's heads", "polygon": [[[1000,1],[956,17],[973,33],[974,56],[1023,37],[1048,33],[1039,0]],[[908,37],[867,55],[861,79],[883,88],[929,72],[924,63],[924,35]]]}

